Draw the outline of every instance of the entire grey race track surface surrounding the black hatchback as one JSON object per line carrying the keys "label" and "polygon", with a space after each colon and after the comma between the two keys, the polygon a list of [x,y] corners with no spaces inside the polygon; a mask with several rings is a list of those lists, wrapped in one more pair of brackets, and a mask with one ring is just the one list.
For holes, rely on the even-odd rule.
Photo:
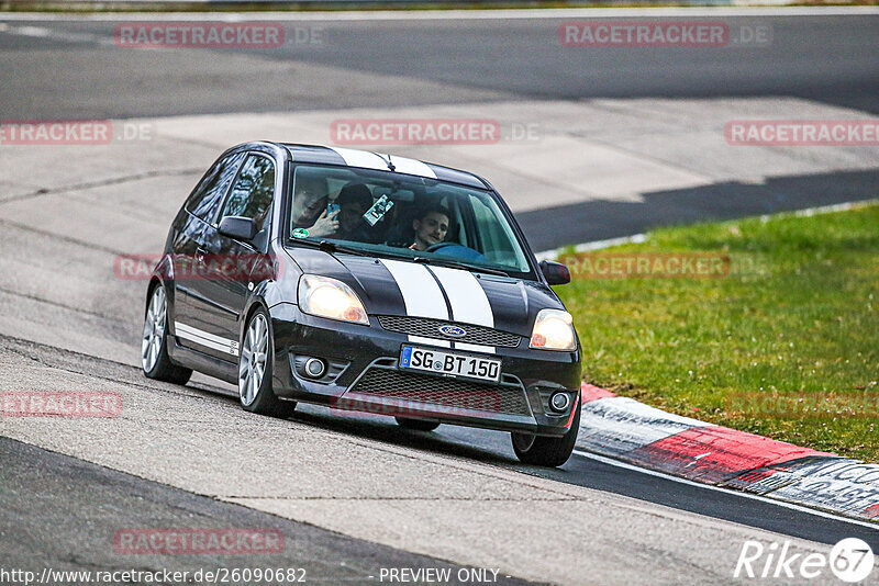
{"label": "entire grey race track surface surrounding the black hatchback", "polygon": [[[149,381],[138,367],[145,283],[112,272],[116,255],[162,246],[225,146],[275,133],[327,142],[345,116],[537,123],[539,139],[524,144],[382,147],[486,174],[535,250],[877,198],[875,147],[722,144],[731,119],[879,113],[879,13],[780,12],[728,19],[768,26],[768,46],[590,52],[558,44],[558,24],[581,16],[310,15],[287,30],[320,30],[320,43],[126,50],[111,21],[0,15],[0,120],[130,120],[152,134],[0,144],[0,390],[112,391],[125,405],[91,421],[0,418],[2,567],[270,565],[332,584],[380,582],[381,568],[494,568],[503,583],[728,584],[746,540],[826,553],[858,537],[879,551],[868,523],[581,454],[558,470],[523,466],[502,433],[413,432],[308,406],[269,419],[203,376]],[[114,551],[116,531],[155,527],[270,528],[285,549]]]}

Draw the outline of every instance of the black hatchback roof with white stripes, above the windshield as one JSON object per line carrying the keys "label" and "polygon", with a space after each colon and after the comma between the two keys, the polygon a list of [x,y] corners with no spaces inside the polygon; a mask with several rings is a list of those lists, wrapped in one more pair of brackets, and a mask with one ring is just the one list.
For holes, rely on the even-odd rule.
{"label": "black hatchback roof with white stripes, above the windshield", "polygon": [[293,162],[318,162],[389,171],[388,160],[390,160],[398,173],[427,177],[479,189],[490,188],[486,181],[474,173],[397,155],[321,145],[278,143],[277,146],[287,149]]}

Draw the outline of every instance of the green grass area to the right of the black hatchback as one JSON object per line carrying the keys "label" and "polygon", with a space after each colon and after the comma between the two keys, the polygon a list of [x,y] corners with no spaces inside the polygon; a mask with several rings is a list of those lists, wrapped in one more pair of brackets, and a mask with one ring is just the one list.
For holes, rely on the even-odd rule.
{"label": "green grass area to the right of the black hatchback", "polygon": [[[601,252],[724,252],[715,279],[575,279],[557,288],[583,380],[649,405],[879,462],[879,205],[652,232]],[[803,416],[731,397],[827,396]],[[871,401],[871,416],[846,402]],[[869,414],[868,414],[869,415]]]}

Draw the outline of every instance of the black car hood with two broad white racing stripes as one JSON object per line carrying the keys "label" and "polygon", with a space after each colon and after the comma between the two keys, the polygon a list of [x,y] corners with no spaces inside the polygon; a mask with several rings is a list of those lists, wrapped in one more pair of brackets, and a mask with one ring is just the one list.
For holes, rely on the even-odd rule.
{"label": "black car hood with two broad white racing stripes", "polygon": [[476,324],[528,337],[537,312],[565,308],[552,289],[536,281],[303,248],[293,257],[303,272],[354,289],[369,315]]}

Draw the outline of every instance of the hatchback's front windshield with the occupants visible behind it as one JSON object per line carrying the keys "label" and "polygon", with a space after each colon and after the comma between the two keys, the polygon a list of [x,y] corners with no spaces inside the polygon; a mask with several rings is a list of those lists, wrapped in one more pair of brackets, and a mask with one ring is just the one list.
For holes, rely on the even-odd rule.
{"label": "hatchback's front windshield with the occupants visible behind it", "polygon": [[531,274],[488,191],[389,171],[299,165],[291,194],[292,240],[333,240],[376,256]]}

